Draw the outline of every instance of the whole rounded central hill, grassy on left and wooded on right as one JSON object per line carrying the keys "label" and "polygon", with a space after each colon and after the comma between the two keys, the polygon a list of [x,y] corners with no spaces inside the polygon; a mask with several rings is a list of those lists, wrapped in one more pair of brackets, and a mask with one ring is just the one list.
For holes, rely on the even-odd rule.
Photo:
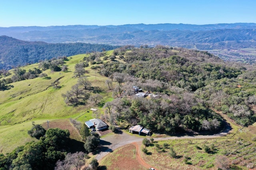
{"label": "whole rounded central hill, grassy on left and wooded on right", "polygon": [[[0,129],[10,125],[17,125],[22,129],[22,124],[28,121],[67,118],[86,121],[96,116],[92,115],[90,108],[98,107],[97,114],[101,115],[104,112],[102,109],[104,104],[113,98],[119,99],[126,95],[131,101],[124,100],[123,104],[119,103],[120,106],[124,106],[119,108],[124,109],[120,111],[119,117],[123,117],[122,119],[129,123],[130,121],[140,122],[141,125],[154,131],[177,132],[186,129],[198,131],[199,127],[205,129],[220,127],[221,117],[209,108],[223,111],[240,125],[247,126],[256,121],[253,67],[226,63],[206,51],[172,49],[165,46],[120,48],[103,54],[100,59],[94,57],[95,53],[68,57],[64,61],[69,68],[67,71],[53,72],[46,69],[43,73],[46,73],[48,78],[37,77],[13,82],[10,84],[12,88],[0,91],[2,96],[0,98]],[[114,59],[111,58],[113,55],[115,55]],[[74,85],[78,82],[78,78],[74,77],[74,70],[80,61],[90,63],[86,67],[86,76],[93,88],[88,92],[90,95],[100,94],[103,97],[100,104],[95,105],[87,100],[82,104],[74,105],[66,103],[63,98],[63,94],[75,89]],[[38,66],[39,63],[23,66],[21,69],[28,71]],[[12,78],[14,70],[10,72],[12,75],[3,77],[1,80]],[[118,76],[114,77],[111,90],[106,86],[105,80],[110,80],[112,74],[116,76],[120,74],[125,78],[123,86],[117,86]],[[60,82],[59,88],[52,86],[56,80]],[[130,93],[134,84],[141,86],[145,91],[153,91],[164,97],[152,100],[152,103],[147,103],[147,100],[143,102],[134,100]],[[121,90],[115,91],[118,89]],[[121,101],[115,100],[114,104],[118,102]],[[125,104],[130,109],[126,108]],[[163,112],[166,107],[169,110]],[[203,114],[198,115],[197,119],[190,115],[194,114],[195,117],[198,113]],[[180,117],[178,118],[177,115]],[[203,119],[206,120],[204,124]],[[216,125],[211,124],[213,119]],[[170,128],[169,121],[174,121],[173,128]],[[158,125],[159,122],[161,125]],[[6,136],[2,137],[5,139]]]}

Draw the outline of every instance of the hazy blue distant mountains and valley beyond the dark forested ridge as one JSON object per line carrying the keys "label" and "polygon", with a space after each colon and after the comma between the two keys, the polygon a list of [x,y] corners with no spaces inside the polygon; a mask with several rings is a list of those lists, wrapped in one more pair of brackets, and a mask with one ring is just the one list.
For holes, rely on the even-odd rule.
{"label": "hazy blue distant mountains and valley beyond the dark forested ridge", "polygon": [[82,42],[135,46],[147,44],[197,49],[230,49],[255,47],[255,28],[256,23],[67,25],[0,27],[0,35],[48,43]]}

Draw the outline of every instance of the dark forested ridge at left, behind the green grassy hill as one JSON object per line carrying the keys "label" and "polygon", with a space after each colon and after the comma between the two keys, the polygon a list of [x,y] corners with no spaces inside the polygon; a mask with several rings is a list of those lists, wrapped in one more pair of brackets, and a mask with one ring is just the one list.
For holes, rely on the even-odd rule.
{"label": "dark forested ridge at left, behind the green grassy hill", "polygon": [[85,43],[28,42],[0,36],[0,69],[37,63],[40,60],[105,51],[116,46]]}

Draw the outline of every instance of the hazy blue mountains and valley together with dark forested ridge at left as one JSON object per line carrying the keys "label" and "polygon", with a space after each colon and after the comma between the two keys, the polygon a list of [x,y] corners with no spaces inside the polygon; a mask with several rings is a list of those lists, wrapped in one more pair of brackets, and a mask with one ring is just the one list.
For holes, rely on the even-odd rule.
{"label": "hazy blue mountains and valley together with dark forested ridge at left", "polygon": [[[167,45],[207,50],[224,60],[256,62],[256,23],[0,27],[0,35],[16,38],[14,40],[2,36],[0,39],[0,68],[34,63],[39,59],[99,51],[102,48],[113,49],[113,47],[102,46],[97,49],[92,46],[85,48],[77,43],[134,45],[135,47]],[[24,41],[33,41],[33,43]],[[63,43],[73,45],[65,46]],[[39,48],[38,45],[41,47]],[[249,51],[245,51],[245,48],[249,48]],[[9,60],[13,62],[10,63]]]}

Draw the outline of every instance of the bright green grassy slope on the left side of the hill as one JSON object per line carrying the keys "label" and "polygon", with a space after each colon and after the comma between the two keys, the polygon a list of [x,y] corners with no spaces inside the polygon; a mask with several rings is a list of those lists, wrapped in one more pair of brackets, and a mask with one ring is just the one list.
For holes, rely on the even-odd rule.
{"label": "bright green grassy slope on the left side of the hill", "polygon": [[[111,54],[112,51],[108,51]],[[65,65],[68,66],[67,72],[51,72],[44,71],[48,74],[50,79],[34,78],[30,80],[23,80],[14,82],[11,85],[14,88],[10,90],[1,91],[0,95],[0,153],[7,153],[19,145],[24,145],[26,142],[34,140],[27,131],[32,126],[32,121],[37,124],[46,122],[52,119],[76,119],[80,122],[95,118],[96,114],[90,111],[90,108],[98,108],[98,114],[103,111],[98,106],[92,104],[80,106],[68,106],[62,98],[62,94],[71,90],[72,86],[77,83],[78,78],[74,78],[74,66],[76,63],[82,61],[86,55],[75,55],[68,57]],[[32,64],[22,67],[22,69],[29,70],[38,68],[39,64]],[[112,100],[112,93],[108,92],[105,86],[104,76],[101,76],[94,70],[87,67],[88,79],[93,87],[102,89],[102,96],[105,101]],[[13,70],[10,70],[13,72]],[[60,74],[61,73],[61,74]],[[10,78],[12,75],[5,77]],[[61,88],[55,89],[51,86],[52,82],[60,79]],[[102,107],[102,106],[101,106]]]}

